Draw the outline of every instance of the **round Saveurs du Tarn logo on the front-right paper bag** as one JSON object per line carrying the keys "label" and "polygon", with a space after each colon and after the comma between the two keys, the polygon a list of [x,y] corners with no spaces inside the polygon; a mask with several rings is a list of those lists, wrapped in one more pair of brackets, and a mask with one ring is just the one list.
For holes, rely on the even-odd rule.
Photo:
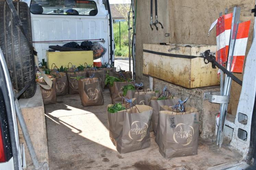
{"label": "round Saveurs du Tarn logo on the front-right paper bag", "polygon": [[189,145],[194,136],[194,128],[192,126],[186,125],[184,123],[179,123],[176,125],[173,140],[183,146]]}

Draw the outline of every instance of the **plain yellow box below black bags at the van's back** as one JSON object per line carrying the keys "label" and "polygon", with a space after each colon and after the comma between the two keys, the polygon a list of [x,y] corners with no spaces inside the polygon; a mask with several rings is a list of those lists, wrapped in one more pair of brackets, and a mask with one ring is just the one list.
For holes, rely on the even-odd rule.
{"label": "plain yellow box below black bags at the van's back", "polygon": [[[63,52],[49,52],[47,55],[47,67],[51,69],[52,63],[55,63],[58,68],[61,66],[68,67],[71,62],[73,66],[93,65],[93,51],[63,51]],[[71,67],[71,65],[69,66]]]}

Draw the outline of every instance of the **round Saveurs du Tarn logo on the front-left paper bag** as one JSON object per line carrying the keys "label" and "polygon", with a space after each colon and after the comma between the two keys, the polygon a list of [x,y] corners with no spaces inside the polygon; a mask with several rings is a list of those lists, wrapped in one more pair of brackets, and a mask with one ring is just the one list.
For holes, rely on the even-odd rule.
{"label": "round Saveurs du Tarn logo on the front-left paper bag", "polygon": [[148,124],[139,121],[134,121],[131,125],[131,130],[129,131],[129,137],[132,140],[142,141],[148,130]]}

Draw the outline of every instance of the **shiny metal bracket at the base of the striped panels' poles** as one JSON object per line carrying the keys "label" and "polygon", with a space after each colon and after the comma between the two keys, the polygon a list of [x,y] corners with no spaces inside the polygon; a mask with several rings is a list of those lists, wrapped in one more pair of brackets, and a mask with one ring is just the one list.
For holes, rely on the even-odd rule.
{"label": "shiny metal bracket at the base of the striped panels' poles", "polygon": [[220,96],[219,91],[204,93],[204,100],[208,100],[211,103],[229,103],[229,96]]}

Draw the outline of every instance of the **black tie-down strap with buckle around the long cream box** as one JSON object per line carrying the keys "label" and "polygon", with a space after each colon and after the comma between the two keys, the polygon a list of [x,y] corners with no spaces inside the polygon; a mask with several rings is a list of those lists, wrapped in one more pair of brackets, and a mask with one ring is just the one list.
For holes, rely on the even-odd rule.
{"label": "black tie-down strap with buckle around the long cream box", "polygon": [[[212,63],[212,68],[216,68],[216,66],[221,69],[225,74],[227,74],[229,77],[231,77],[232,80],[234,80],[236,83],[242,86],[242,81],[239,80],[232,72],[229,72],[226,68],[221,66],[217,61],[215,56],[210,54],[210,50],[206,50],[203,55],[200,56],[191,56],[191,55],[181,55],[181,54],[169,54],[169,53],[162,53],[162,52],[156,52],[156,51],[150,51],[147,49],[143,49],[143,52],[145,53],[151,53],[151,54],[156,54],[156,55],[161,55],[161,56],[169,56],[169,57],[178,57],[178,58],[187,58],[187,59],[193,59],[193,58],[204,58],[205,64],[208,64],[209,62]],[[207,61],[206,61],[207,60]]]}

